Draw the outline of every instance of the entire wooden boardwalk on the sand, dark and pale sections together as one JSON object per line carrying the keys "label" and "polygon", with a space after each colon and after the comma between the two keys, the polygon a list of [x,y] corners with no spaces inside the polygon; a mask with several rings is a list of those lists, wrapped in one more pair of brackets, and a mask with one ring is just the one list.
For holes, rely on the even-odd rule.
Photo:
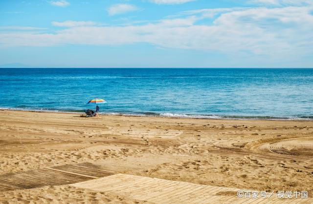
{"label": "entire wooden boardwalk on the sand, dark and pale sections together", "polygon": [[0,175],[0,191],[71,184],[75,187],[128,196],[151,203],[307,203],[309,199],[239,198],[241,189],[191,184],[129,175],[150,166],[131,167],[115,163],[78,163]]}

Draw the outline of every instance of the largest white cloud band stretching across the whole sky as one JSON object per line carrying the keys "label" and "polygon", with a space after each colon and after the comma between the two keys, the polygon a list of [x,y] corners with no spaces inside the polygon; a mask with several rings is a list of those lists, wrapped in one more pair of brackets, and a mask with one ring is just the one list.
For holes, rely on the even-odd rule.
{"label": "largest white cloud band stretching across the whole sky", "polygon": [[[56,33],[0,33],[7,46],[65,44],[122,45],[149,43],[164,48],[219,52],[240,58],[261,56],[270,61],[313,55],[311,7],[202,9],[176,19],[127,26],[94,26],[58,22]],[[212,13],[219,13],[211,19]],[[197,14],[197,17],[193,14]],[[197,24],[201,20],[201,24]],[[207,21],[207,24],[203,23]],[[75,22],[75,21],[73,21]],[[88,22],[88,21],[87,21]]]}

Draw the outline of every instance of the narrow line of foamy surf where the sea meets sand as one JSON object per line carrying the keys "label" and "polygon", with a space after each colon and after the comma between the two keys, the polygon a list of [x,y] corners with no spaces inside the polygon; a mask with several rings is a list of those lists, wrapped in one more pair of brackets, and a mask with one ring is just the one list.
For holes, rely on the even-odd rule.
{"label": "narrow line of foamy surf where the sea meets sand", "polygon": [[[1,108],[0,111],[23,111],[23,112],[42,112],[42,113],[66,113],[66,114],[85,114],[85,112],[77,111],[59,111],[59,110],[39,110],[39,109],[18,109],[18,108]],[[176,113],[151,113],[145,114],[126,114],[126,113],[108,113],[99,112],[105,116],[127,116],[127,117],[155,117],[155,118],[176,118],[176,119],[207,119],[207,120],[234,120],[234,121],[313,121],[313,118],[280,118],[271,116],[218,116],[218,115],[187,115]]]}

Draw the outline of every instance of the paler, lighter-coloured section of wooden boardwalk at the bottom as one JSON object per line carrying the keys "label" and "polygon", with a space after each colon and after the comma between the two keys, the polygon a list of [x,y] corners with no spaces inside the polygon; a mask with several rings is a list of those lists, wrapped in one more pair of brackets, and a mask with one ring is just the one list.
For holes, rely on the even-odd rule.
{"label": "paler, lighter-coloured section of wooden boardwalk at the bottom", "polygon": [[169,181],[127,174],[116,174],[71,185],[80,188],[88,188],[91,190],[104,191],[117,195],[128,196],[130,198],[156,204],[313,203],[313,198],[278,199],[276,195],[272,195],[270,198],[266,199],[261,197],[255,199],[239,198],[237,196],[237,192],[240,189],[236,188],[191,184],[186,182]]}

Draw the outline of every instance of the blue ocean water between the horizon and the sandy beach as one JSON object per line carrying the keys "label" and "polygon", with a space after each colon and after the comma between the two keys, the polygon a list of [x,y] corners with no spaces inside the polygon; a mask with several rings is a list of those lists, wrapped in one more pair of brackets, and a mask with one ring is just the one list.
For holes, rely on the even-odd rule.
{"label": "blue ocean water between the horizon and the sandy beach", "polygon": [[0,69],[0,108],[311,119],[313,69]]}

